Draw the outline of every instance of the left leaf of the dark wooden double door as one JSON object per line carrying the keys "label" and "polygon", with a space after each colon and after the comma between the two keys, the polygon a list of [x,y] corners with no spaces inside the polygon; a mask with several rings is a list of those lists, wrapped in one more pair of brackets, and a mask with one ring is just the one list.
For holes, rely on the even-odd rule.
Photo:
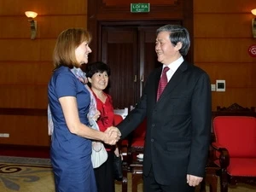
{"label": "left leaf of the dark wooden double door", "polygon": [[111,67],[108,93],[114,108],[134,105],[137,96],[137,38],[133,27],[102,27],[102,61]]}

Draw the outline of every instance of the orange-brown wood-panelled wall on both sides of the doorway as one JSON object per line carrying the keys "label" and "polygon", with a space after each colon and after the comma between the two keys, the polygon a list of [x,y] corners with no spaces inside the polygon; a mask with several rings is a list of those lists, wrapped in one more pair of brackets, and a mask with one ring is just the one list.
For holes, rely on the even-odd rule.
{"label": "orange-brown wood-panelled wall on both sides of the doorway", "polygon": [[[0,133],[10,134],[0,144],[48,146],[47,84],[55,39],[68,27],[87,27],[87,0],[1,0],[0,7]],[[209,73],[212,84],[226,80],[225,92],[212,92],[213,110],[233,102],[256,106],[256,58],[247,54],[256,44],[254,8],[254,0],[194,0],[195,65]],[[38,12],[35,40],[26,10]]]}

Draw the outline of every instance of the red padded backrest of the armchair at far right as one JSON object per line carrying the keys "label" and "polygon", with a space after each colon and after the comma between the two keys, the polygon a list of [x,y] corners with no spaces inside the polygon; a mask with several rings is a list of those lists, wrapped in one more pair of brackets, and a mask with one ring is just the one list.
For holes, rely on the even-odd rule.
{"label": "red padded backrest of the armchair at far right", "polygon": [[218,116],[213,119],[216,142],[230,157],[256,157],[256,119],[246,116]]}

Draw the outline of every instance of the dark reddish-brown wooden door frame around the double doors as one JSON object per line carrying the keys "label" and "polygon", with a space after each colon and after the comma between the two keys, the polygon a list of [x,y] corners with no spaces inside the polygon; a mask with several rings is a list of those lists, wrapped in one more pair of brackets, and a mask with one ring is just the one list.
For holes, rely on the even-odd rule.
{"label": "dark reddish-brown wooden door frame around the double doors", "polygon": [[[90,48],[92,53],[90,54],[90,61],[101,60],[102,51],[102,25],[113,24],[127,25],[128,23],[169,23],[168,21],[179,21],[189,31],[190,36],[190,49],[186,57],[186,60],[194,63],[194,16],[193,16],[193,4],[194,1],[188,0],[175,0],[172,5],[155,5],[151,13],[148,15],[131,15],[127,11],[124,11],[122,6],[114,6],[109,9],[102,0],[88,0],[87,9],[87,28],[92,35],[92,41]],[[170,14],[172,12],[172,14]],[[127,15],[124,17],[124,14]],[[139,25],[139,24],[138,24]]]}

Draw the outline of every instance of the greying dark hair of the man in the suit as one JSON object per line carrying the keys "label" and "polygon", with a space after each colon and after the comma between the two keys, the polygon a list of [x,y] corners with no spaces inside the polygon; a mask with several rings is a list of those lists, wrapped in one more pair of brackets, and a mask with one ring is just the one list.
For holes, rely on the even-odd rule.
{"label": "greying dark hair of the man in the suit", "polygon": [[169,39],[173,46],[176,46],[178,42],[182,44],[182,48],[179,49],[181,55],[187,55],[190,47],[190,38],[188,30],[179,25],[166,25],[161,26],[156,30],[156,35],[160,32],[170,32]]}

